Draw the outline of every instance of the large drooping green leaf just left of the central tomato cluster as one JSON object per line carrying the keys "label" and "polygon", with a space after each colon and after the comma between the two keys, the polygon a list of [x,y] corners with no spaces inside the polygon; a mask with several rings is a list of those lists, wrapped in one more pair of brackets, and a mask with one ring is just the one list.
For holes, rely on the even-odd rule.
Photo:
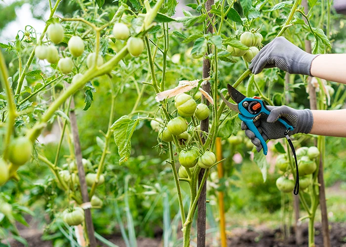
{"label": "large drooping green leaf just left of the central tomato cluster", "polygon": [[130,119],[129,116],[123,116],[111,126],[111,129],[114,130],[114,140],[120,155],[119,165],[122,165],[130,158],[131,137],[138,122],[138,120]]}

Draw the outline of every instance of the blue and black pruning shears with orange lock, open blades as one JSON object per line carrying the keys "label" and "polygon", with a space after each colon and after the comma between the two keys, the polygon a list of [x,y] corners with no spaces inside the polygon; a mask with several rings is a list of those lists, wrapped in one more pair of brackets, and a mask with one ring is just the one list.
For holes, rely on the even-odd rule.
{"label": "blue and black pruning shears with orange lock, open blades", "polygon": [[[232,104],[231,102],[226,100],[221,93],[220,96],[223,102],[231,110],[239,113],[239,119],[243,121],[252,132],[255,133],[255,136],[259,139],[260,144],[262,145],[263,154],[267,155],[267,144],[264,141],[262,135],[259,133],[259,130],[255,125],[255,122],[259,120],[261,114],[264,113],[266,115],[269,115],[270,110],[267,108],[263,100],[261,100],[257,96],[255,96],[254,98],[248,98],[230,84],[227,84],[227,90],[228,94],[237,104]],[[288,131],[293,130],[294,127],[291,124],[287,123],[284,119],[279,118],[278,121],[286,127],[285,135],[288,136]]]}

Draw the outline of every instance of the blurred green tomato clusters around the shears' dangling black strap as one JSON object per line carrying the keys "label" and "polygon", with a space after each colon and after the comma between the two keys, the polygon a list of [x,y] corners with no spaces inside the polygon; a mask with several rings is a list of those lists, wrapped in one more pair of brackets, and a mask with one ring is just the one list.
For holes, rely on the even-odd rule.
{"label": "blurred green tomato clusters around the shears' dangling black strap", "polygon": [[[317,169],[316,159],[319,157],[320,152],[317,147],[301,147],[296,152],[298,159],[298,171],[299,171],[299,188],[301,190],[306,189],[312,184],[312,173]],[[288,178],[291,171],[289,161],[285,154],[281,154],[276,159],[277,168],[284,172],[284,175],[276,180],[276,187],[285,193],[292,192],[295,183],[292,179]],[[292,172],[296,172],[295,170]]]}

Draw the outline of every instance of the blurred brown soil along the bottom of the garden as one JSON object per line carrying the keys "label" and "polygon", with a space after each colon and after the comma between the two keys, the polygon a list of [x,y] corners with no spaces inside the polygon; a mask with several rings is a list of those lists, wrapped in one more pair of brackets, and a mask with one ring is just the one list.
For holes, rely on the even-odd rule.
{"label": "blurred brown soil along the bottom of the garden", "polygon": [[[346,223],[331,223],[331,246],[332,247],[346,247]],[[323,247],[321,225],[316,224],[316,247]],[[21,230],[21,235],[28,241],[30,247],[52,247],[50,242],[42,241],[42,232],[39,230]],[[118,245],[119,247],[126,247],[123,239],[119,235],[106,236],[110,242]],[[307,226],[303,230],[303,245],[307,246]],[[207,240],[208,241],[208,240]],[[106,247],[98,243],[102,247]],[[161,237],[155,239],[137,238],[138,247],[161,247]],[[22,244],[11,240],[11,247],[23,247]],[[208,245],[207,245],[208,246]],[[283,236],[279,229],[271,230],[266,227],[257,227],[254,229],[234,229],[231,232],[231,237],[228,239],[228,246],[230,247],[297,247],[294,235],[287,240],[283,240]]]}

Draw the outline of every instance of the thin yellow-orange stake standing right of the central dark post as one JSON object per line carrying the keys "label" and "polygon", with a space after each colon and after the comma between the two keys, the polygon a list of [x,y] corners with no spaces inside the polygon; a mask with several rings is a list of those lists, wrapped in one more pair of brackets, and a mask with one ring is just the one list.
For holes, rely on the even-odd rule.
{"label": "thin yellow-orange stake standing right of the central dark post", "polygon": [[[221,138],[216,138],[216,160],[217,162],[222,160],[222,145]],[[222,162],[217,164],[217,173],[218,178],[223,177],[223,168]],[[227,247],[227,239],[226,239],[226,224],[225,224],[225,212],[223,205],[223,192],[218,192],[218,211],[220,214],[220,237],[221,237],[221,247]]]}

